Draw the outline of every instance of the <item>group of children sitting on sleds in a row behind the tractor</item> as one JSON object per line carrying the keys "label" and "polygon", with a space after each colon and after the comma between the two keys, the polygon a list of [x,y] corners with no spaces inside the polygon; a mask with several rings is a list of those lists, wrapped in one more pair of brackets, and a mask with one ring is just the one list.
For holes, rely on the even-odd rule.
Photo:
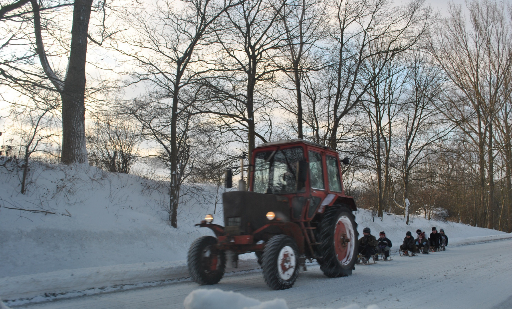
{"label": "group of children sitting on sleds in a row behind the tractor", "polygon": [[[387,261],[390,256],[391,247],[393,244],[391,240],[386,237],[385,232],[379,233],[379,238],[375,238],[371,234],[370,228],[364,228],[362,230],[363,236],[359,239],[359,254],[363,263],[368,263],[368,260],[372,255],[376,253],[383,254],[384,260]],[[444,234],[444,230],[440,229],[439,233],[437,228],[432,228],[430,237],[425,237],[425,232],[416,230],[418,238],[414,239],[411,232],[406,233],[406,238],[403,239],[403,243],[400,245],[400,251],[403,251],[408,255],[408,252],[428,254],[432,249],[438,251],[441,247],[448,245],[448,237]]]}

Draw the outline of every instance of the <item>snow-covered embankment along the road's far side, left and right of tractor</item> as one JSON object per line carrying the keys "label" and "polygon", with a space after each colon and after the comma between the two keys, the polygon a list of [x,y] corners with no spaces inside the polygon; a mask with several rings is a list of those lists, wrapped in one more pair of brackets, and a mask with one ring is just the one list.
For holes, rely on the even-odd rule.
{"label": "snow-covered embankment along the road's far side, left and right of tractor", "polygon": [[[210,186],[184,186],[174,229],[166,224],[165,183],[89,166],[37,163],[25,195],[19,193],[19,179],[12,169],[0,167],[0,298],[6,300],[90,295],[186,278],[188,246],[212,235],[194,223],[214,213],[222,193]],[[222,204],[216,208],[215,220],[222,222]],[[365,226],[374,235],[385,231],[395,251],[407,231],[430,233],[432,226],[444,229],[450,245],[512,237],[417,217],[406,225],[399,216],[381,220],[366,210],[356,213],[356,221],[359,233]],[[237,271],[258,268],[248,254]]]}

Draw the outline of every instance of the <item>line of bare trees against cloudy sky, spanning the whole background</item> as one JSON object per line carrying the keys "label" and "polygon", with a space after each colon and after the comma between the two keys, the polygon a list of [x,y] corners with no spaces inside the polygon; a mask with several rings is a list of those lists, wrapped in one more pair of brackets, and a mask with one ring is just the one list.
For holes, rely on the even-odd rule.
{"label": "line of bare trees against cloudy sky, spanning the whole background", "polygon": [[182,183],[219,188],[258,143],[303,138],[351,158],[345,191],[377,217],[512,232],[506,3],[0,5],[2,155],[21,193],[29,158],[144,170],[169,181],[176,227]]}

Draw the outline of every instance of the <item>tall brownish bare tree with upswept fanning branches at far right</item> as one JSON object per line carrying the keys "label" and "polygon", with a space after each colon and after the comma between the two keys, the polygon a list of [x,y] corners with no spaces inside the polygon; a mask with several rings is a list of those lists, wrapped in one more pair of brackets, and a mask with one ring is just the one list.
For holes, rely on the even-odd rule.
{"label": "tall brownish bare tree with upswept fanning branches at far right", "polygon": [[[450,4],[449,17],[432,51],[452,85],[439,106],[473,145],[477,146],[480,204],[485,207],[487,228],[494,228],[495,145],[493,123],[510,98],[512,83],[512,31],[502,4],[493,1]],[[468,24],[466,23],[468,20]]]}

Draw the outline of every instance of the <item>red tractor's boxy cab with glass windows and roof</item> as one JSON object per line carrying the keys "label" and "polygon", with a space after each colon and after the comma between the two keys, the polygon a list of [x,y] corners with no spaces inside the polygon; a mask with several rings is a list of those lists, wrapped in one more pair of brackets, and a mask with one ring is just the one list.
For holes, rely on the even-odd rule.
{"label": "red tractor's boxy cab with glass windows and roof", "polygon": [[353,199],[344,198],[340,161],[331,148],[302,139],[263,143],[250,165],[249,191],[287,197],[292,221],[310,221],[335,200],[356,210]]}

